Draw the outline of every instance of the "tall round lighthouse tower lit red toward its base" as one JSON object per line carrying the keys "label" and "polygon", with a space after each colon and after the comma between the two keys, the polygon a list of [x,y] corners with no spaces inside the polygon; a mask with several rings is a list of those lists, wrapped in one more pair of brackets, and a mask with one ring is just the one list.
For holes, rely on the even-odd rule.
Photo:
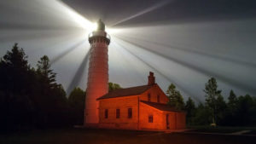
{"label": "tall round lighthouse tower lit red toward its base", "polygon": [[89,35],[90,58],[84,109],[84,126],[99,123],[99,102],[97,98],[108,93],[108,44],[110,37],[105,24],[97,21],[96,31]]}

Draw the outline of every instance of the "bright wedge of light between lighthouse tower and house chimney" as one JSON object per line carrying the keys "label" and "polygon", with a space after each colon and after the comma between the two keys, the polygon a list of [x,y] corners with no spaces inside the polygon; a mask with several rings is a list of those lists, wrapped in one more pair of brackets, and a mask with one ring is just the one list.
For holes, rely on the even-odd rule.
{"label": "bright wedge of light between lighthouse tower and house chimney", "polygon": [[109,82],[120,84],[123,88],[147,83],[144,74],[148,74],[148,67],[142,66],[132,55],[120,48],[115,39],[109,44],[108,50]]}

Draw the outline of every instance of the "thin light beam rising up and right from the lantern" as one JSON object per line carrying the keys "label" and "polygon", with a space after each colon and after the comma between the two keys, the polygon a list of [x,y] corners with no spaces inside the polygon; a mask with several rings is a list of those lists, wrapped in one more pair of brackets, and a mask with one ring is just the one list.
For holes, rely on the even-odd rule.
{"label": "thin light beam rising up and right from the lantern", "polygon": [[119,20],[118,22],[114,23],[111,27],[117,26],[117,25],[119,25],[120,23],[123,23],[123,22],[125,22],[125,21],[127,21],[127,20],[134,19],[134,18],[136,18],[136,17],[138,17],[138,16],[141,16],[141,15],[143,15],[143,14],[147,14],[148,12],[151,12],[151,11],[153,11],[153,10],[155,10],[155,9],[160,9],[161,7],[163,7],[163,6],[165,6],[166,4],[171,3],[171,2],[172,2],[172,0],[163,0],[163,1],[160,1],[160,3],[156,3],[154,6],[149,7],[148,9],[144,9],[144,10],[138,12],[137,14],[133,14],[133,15],[131,15],[131,16],[129,16],[129,17],[123,19],[123,20]]}

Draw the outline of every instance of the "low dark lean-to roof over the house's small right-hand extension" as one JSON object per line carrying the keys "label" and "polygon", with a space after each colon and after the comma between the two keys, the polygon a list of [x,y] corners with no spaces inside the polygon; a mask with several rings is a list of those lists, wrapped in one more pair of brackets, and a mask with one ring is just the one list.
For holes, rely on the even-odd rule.
{"label": "low dark lean-to roof over the house's small right-hand extension", "polygon": [[170,107],[163,103],[156,103],[156,102],[150,102],[150,101],[141,101],[144,104],[148,105],[149,107],[154,107],[160,111],[169,111],[169,112],[183,112],[180,110],[175,109],[174,107]]}

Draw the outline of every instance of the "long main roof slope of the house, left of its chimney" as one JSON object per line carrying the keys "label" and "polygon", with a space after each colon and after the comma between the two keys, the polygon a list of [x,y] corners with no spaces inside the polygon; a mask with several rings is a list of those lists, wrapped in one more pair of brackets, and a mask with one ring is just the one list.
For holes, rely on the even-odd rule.
{"label": "long main roof slope of the house, left of its chimney", "polygon": [[122,97],[122,96],[130,96],[130,95],[140,95],[146,90],[150,89],[154,85],[142,85],[137,87],[131,87],[126,89],[114,89],[110,91],[108,94],[99,97],[97,100],[114,98],[114,97]]}

